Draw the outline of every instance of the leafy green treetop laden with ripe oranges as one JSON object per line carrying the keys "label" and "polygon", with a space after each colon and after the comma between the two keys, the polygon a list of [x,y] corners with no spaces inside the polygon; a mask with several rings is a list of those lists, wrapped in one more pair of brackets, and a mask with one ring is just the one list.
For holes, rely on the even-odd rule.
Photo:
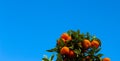
{"label": "leafy green treetop laden with ripe oranges", "polygon": [[57,52],[56,61],[110,61],[110,58],[101,58],[101,41],[89,33],[80,34],[80,31],[68,31],[57,40],[56,47],[48,50]]}

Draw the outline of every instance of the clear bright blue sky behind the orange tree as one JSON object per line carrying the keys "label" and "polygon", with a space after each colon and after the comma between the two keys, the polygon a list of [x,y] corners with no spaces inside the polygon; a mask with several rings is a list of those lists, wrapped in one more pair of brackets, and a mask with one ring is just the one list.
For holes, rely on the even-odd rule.
{"label": "clear bright blue sky behind the orange tree", "polygon": [[0,0],[0,61],[41,61],[70,29],[96,35],[104,57],[119,60],[119,0]]}

